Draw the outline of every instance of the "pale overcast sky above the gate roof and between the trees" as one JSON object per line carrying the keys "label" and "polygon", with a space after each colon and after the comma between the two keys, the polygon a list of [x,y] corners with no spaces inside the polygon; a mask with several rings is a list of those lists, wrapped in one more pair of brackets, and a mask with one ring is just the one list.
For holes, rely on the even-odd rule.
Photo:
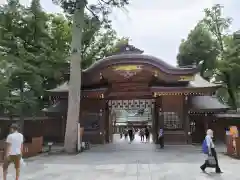
{"label": "pale overcast sky above the gate roof and between the trees", "polygon": [[[0,0],[4,3],[6,0]],[[89,3],[96,0],[89,0]],[[114,9],[111,14],[113,28],[118,36],[130,38],[130,43],[144,50],[145,54],[156,56],[176,65],[176,55],[182,39],[204,16],[204,8],[222,4],[224,15],[233,18],[230,31],[240,29],[240,0],[130,0],[126,10]],[[30,0],[20,0],[29,4]],[[149,3],[151,2],[151,3]],[[48,12],[61,12],[51,0],[41,0]],[[237,13],[238,12],[238,13]]]}

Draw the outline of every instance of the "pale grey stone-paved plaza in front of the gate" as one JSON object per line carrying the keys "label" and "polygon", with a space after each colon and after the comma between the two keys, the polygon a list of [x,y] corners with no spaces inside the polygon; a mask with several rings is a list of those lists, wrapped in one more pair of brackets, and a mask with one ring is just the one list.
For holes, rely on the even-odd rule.
{"label": "pale grey stone-paved plaza in front of the gate", "polygon": [[[240,161],[219,154],[221,175],[208,169],[200,149],[193,146],[166,146],[125,140],[99,145],[78,155],[42,155],[26,160],[20,180],[240,180]],[[10,167],[8,180],[14,180]],[[237,175],[238,174],[238,175]]]}

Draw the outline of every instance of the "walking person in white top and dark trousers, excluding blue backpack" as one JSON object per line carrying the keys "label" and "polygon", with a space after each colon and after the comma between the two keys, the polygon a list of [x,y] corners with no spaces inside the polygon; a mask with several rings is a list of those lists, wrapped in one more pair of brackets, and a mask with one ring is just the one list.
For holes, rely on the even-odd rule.
{"label": "walking person in white top and dark trousers, excluding blue backpack", "polygon": [[[205,140],[208,147],[208,156],[213,156],[216,161],[216,173],[222,173],[218,164],[217,153],[215,150],[215,145],[213,143],[213,131],[211,129],[207,130],[207,135],[205,137]],[[205,163],[200,168],[202,169],[202,171],[205,171],[207,167],[209,167],[209,163],[206,160]]]}

